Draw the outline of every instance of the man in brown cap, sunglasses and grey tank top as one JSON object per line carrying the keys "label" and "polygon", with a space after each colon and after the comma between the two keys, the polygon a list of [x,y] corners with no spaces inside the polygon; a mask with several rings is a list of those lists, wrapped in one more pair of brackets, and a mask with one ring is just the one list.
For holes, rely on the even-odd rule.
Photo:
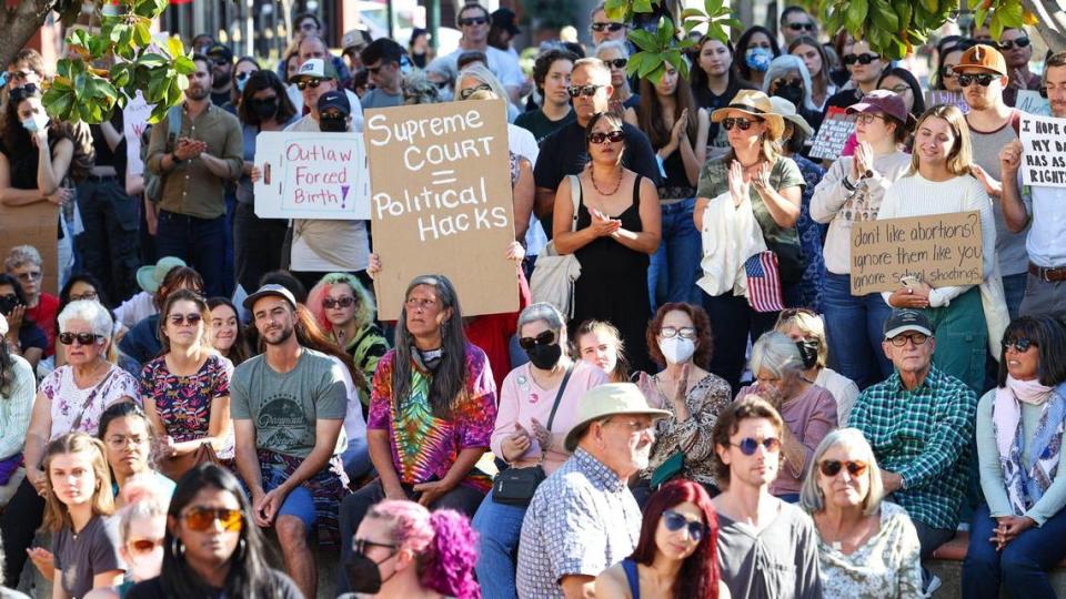
{"label": "man in brown cap, sunglasses and grey tank top", "polygon": [[1010,318],[1018,315],[1025,295],[1028,256],[1025,251],[1025,231],[1014,233],[1007,226],[999,196],[1003,185],[999,176],[999,151],[1018,139],[1022,112],[1004,102],[1008,82],[1006,60],[992,45],[977,44],[963,52],[955,65],[955,80],[969,105],[966,123],[973,148],[974,174],[992,196],[996,217],[996,254],[1003,273],[1003,291]]}

